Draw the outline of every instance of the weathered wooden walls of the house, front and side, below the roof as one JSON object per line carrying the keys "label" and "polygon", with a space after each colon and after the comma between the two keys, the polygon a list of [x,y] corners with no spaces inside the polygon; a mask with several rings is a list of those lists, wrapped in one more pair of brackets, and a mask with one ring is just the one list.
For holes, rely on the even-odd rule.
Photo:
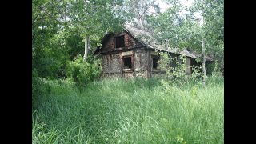
{"label": "weathered wooden walls of the house, front and side, below the roof", "polygon": [[[124,39],[120,38],[123,36]],[[119,38],[118,38],[119,37]],[[118,40],[118,42],[116,42]],[[118,47],[117,47],[118,46]],[[157,65],[161,56],[153,49],[146,48],[138,39],[134,38],[129,32],[106,34],[102,41],[102,49],[98,49],[102,54],[102,76],[122,76],[151,78],[151,76],[166,74]],[[169,53],[174,61],[181,63],[179,54]],[[125,63],[124,63],[124,62]],[[176,62],[170,62],[170,66],[177,67]],[[191,65],[194,58],[186,57],[186,74],[191,74]],[[154,67],[154,68],[153,68]]]}

